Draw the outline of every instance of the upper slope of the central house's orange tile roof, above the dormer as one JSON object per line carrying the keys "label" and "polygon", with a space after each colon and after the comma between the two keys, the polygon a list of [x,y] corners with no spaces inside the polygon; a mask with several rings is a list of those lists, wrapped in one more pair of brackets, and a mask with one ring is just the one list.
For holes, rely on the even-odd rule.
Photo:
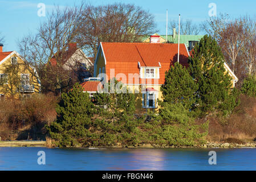
{"label": "upper slope of the central house's orange tile roof, above the dormer", "polygon": [[[160,67],[159,63],[177,60],[178,44],[160,43],[101,43],[105,61],[132,63],[140,62],[141,67]],[[180,60],[188,59],[188,51],[180,44]]]}

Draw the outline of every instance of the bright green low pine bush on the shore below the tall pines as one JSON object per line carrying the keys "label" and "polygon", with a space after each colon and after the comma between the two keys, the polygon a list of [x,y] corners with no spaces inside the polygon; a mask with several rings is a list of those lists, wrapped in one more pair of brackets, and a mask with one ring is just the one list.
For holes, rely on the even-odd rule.
{"label": "bright green low pine bush on the shore below the tall pines", "polygon": [[167,140],[169,145],[193,146],[205,142],[203,137],[208,134],[209,122],[198,125],[190,117],[190,111],[181,103],[164,102],[160,117],[162,120],[160,136]]}

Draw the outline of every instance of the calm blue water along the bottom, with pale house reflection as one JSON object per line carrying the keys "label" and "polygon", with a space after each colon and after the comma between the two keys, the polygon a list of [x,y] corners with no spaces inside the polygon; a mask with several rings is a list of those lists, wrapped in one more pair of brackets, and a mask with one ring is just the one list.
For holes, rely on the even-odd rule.
{"label": "calm blue water along the bottom, with pale house reflection", "polygon": [[[208,163],[212,150],[216,165]],[[38,164],[38,151],[45,152],[45,165]],[[0,170],[256,170],[255,154],[255,148],[0,147]]]}

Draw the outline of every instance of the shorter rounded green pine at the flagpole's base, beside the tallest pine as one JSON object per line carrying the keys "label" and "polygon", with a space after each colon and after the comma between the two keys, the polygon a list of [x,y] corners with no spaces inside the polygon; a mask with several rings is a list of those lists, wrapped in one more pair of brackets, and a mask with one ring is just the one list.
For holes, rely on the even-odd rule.
{"label": "shorter rounded green pine at the flagpole's base, beside the tallest pine", "polygon": [[191,109],[196,102],[197,89],[198,85],[190,76],[188,69],[177,62],[166,72],[165,83],[161,86],[164,102],[181,102],[186,109]]}

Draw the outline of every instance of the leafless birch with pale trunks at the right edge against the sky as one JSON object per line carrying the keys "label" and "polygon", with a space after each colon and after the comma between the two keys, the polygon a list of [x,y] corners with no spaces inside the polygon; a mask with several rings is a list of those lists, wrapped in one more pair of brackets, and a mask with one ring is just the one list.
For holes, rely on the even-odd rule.
{"label": "leafless birch with pale trunks at the right edge against the sky", "polygon": [[227,14],[220,14],[201,26],[217,40],[226,63],[239,78],[237,85],[241,85],[243,78],[253,73],[256,66],[255,18],[230,18]]}

